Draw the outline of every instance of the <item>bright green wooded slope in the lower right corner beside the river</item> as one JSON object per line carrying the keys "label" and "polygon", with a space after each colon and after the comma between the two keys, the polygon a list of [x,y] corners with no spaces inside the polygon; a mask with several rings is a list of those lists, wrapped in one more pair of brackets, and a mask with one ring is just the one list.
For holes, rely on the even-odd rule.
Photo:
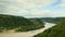
{"label": "bright green wooded slope in the lower right corner beside the river", "polygon": [[56,26],[44,30],[34,37],[65,37],[65,17],[56,17]]}

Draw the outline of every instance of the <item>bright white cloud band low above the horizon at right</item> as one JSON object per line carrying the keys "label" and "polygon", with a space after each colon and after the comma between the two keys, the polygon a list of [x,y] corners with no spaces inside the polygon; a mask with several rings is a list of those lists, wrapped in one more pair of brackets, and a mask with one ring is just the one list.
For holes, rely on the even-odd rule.
{"label": "bright white cloud band low above the horizon at right", "polygon": [[49,11],[49,10],[44,10],[44,11],[37,11],[35,13],[31,13],[32,15],[44,15],[44,16],[52,16],[52,17],[56,17],[56,16],[65,16],[65,12],[62,11]]}

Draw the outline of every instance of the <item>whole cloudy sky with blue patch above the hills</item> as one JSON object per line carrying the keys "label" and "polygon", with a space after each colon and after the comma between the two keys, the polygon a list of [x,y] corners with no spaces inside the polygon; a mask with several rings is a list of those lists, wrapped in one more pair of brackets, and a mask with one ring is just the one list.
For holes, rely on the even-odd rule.
{"label": "whole cloudy sky with blue patch above the hills", "polygon": [[65,0],[0,0],[0,14],[25,17],[65,16]]}

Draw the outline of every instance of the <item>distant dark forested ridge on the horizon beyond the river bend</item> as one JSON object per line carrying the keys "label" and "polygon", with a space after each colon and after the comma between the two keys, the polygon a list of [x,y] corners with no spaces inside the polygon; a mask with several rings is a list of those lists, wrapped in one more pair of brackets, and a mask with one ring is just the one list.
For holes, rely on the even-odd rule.
{"label": "distant dark forested ridge on the horizon beyond the river bend", "polygon": [[41,22],[56,23],[57,24],[57,23],[62,22],[63,18],[65,18],[65,17],[38,17],[37,20],[40,20]]}

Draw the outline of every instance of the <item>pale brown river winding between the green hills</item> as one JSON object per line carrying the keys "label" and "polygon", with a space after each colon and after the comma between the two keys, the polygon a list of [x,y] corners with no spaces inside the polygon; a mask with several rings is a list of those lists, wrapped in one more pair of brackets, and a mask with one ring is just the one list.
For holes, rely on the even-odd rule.
{"label": "pale brown river winding between the green hills", "polygon": [[13,30],[8,33],[0,34],[0,37],[32,37],[39,33],[44,32],[48,28],[51,28],[52,26],[55,26],[56,24],[52,23],[46,23],[43,28],[36,29],[36,30],[29,30],[29,32],[22,32],[22,33],[14,33]]}

